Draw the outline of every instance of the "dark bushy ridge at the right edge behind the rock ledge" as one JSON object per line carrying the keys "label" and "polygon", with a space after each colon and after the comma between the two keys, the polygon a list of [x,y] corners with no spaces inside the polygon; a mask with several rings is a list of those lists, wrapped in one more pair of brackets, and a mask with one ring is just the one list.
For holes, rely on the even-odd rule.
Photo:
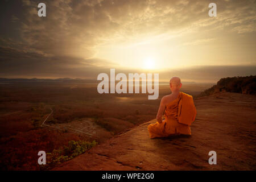
{"label": "dark bushy ridge at the right edge behind the rock ledge", "polygon": [[205,90],[200,96],[209,96],[219,92],[256,94],[256,75],[221,78],[217,82],[217,85],[213,85],[211,88]]}

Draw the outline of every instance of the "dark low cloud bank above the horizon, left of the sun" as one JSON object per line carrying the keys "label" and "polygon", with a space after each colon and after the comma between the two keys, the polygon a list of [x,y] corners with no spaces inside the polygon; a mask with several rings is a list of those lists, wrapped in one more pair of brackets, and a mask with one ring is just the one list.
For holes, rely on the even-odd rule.
{"label": "dark low cloud bank above the horizon, left of the sun", "polygon": [[[94,78],[115,64],[108,60],[81,59],[70,56],[46,56],[0,47],[1,77],[81,77]],[[105,66],[105,65],[108,66]],[[104,66],[103,66],[104,65]]]}

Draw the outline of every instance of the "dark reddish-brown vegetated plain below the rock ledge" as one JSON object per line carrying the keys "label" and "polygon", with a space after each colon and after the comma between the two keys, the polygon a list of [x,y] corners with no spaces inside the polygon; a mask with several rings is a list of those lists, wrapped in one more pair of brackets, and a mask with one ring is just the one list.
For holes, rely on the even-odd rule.
{"label": "dark reddish-brown vegetated plain below the rock ledge", "polygon": [[[0,169],[52,168],[88,150],[96,144],[94,140],[101,143],[155,118],[160,98],[169,93],[168,85],[162,85],[159,99],[147,100],[147,94],[98,94],[96,86],[72,82],[1,84]],[[184,84],[184,92],[195,95],[207,86]],[[41,126],[51,109],[52,115]],[[40,150],[48,153],[47,167],[37,163]]]}

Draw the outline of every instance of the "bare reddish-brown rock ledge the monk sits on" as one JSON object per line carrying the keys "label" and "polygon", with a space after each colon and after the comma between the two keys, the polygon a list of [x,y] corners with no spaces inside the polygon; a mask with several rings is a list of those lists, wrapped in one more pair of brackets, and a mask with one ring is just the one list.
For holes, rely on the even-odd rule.
{"label": "bare reddish-brown rock ledge the monk sits on", "polygon": [[[199,98],[191,137],[150,139],[143,123],[55,170],[255,170],[256,97],[236,93]],[[209,165],[209,151],[217,165]]]}

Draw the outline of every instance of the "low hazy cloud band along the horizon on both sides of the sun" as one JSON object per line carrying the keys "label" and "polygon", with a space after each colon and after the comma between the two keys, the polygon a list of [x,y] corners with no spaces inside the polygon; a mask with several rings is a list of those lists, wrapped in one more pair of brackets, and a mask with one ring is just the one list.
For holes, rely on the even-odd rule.
{"label": "low hazy cloud band along the horizon on both sides of the sun", "polygon": [[[101,59],[80,59],[68,56],[47,57],[40,53],[22,52],[13,48],[0,47],[0,77],[71,77],[97,80],[100,73],[142,73],[140,69],[117,68],[117,65]],[[106,66],[107,65],[107,66]],[[255,65],[200,66],[159,71],[160,81],[179,76],[185,81],[216,82],[222,77],[255,75]]]}

